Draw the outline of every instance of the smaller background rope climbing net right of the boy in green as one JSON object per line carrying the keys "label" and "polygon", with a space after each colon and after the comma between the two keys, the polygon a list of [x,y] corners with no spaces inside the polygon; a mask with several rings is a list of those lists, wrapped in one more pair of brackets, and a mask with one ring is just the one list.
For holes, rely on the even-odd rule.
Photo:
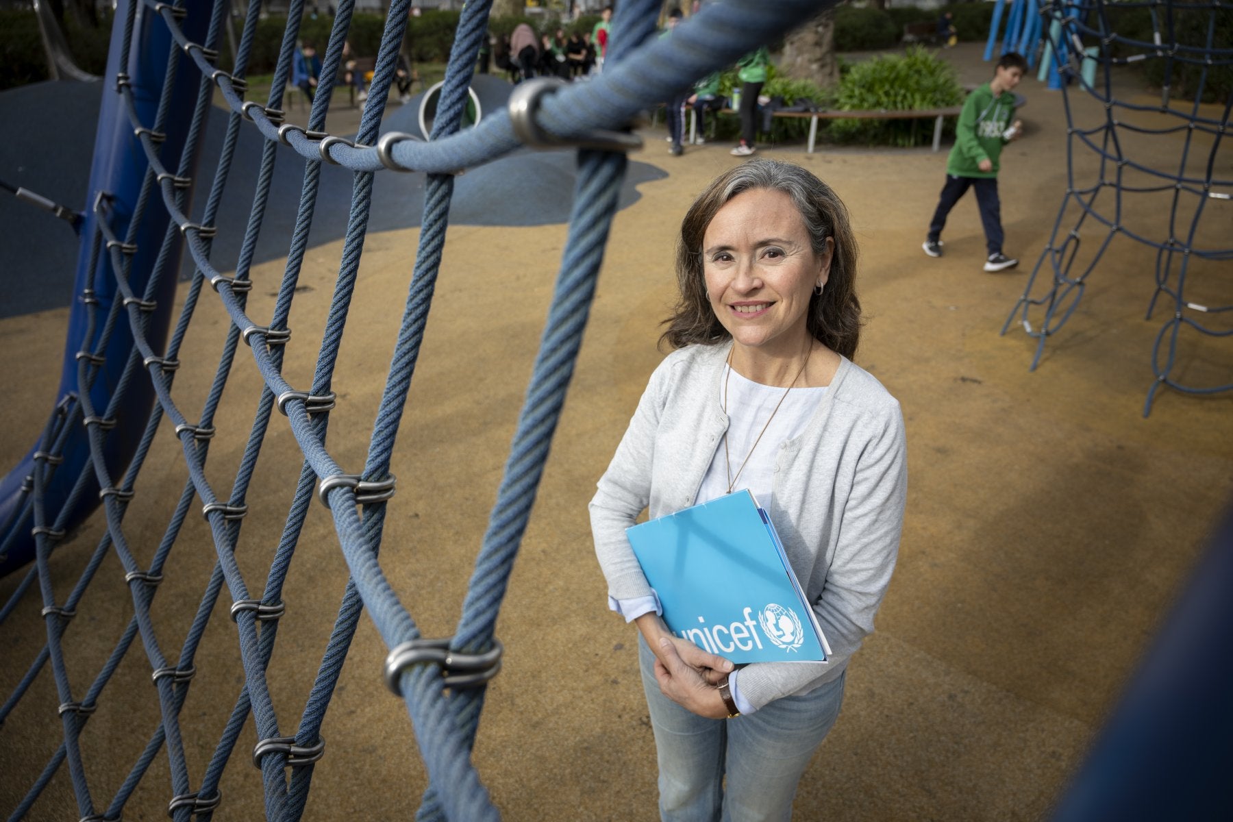
{"label": "smaller background rope climbing net right of the boy in green", "polygon": [[[1211,276],[1200,261],[1233,260],[1228,163],[1229,111],[1233,107],[1233,9],[1211,2],[1112,2],[1054,0],[1042,6],[1046,62],[1060,75],[1067,111],[1067,191],[1049,240],[1023,295],[1002,325],[1016,320],[1037,339],[1032,368],[1046,340],[1074,314],[1089,275],[1118,234],[1155,251],[1155,288],[1147,318],[1158,304],[1169,317],[1152,350],[1155,380],[1143,414],[1152,410],[1160,386],[1211,394],[1233,389],[1187,386],[1175,373],[1185,332],[1213,338],[1233,335],[1219,315],[1233,311],[1228,269]],[[1052,57],[1049,57],[1052,54]],[[1142,63],[1159,81],[1159,102],[1118,97],[1111,67]],[[1097,79],[1095,69],[1102,68]],[[1049,68],[1042,67],[1042,71]],[[1083,124],[1083,100],[1074,85],[1101,105],[1095,124]],[[1152,200],[1148,228],[1127,214],[1136,200]],[[1163,200],[1159,200],[1163,198]],[[1166,213],[1165,219],[1160,219]],[[1080,255],[1085,224],[1097,246]],[[1203,275],[1207,275],[1206,277]],[[1196,298],[1201,293],[1215,297]]]}

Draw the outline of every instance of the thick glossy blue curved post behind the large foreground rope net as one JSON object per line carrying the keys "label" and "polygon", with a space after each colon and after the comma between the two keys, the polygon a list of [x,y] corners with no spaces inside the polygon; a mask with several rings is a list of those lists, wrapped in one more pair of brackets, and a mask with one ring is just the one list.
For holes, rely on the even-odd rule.
{"label": "thick glossy blue curved post behind the large foreground rope net", "polygon": [[[122,67],[120,65],[120,59],[125,52],[123,23],[127,18],[128,6],[134,2],[137,4],[137,17],[133,30],[136,36],[132,47],[128,49],[128,63]],[[203,42],[208,33],[211,5],[211,2],[192,4],[192,11],[182,21],[185,33],[194,42]],[[69,313],[69,329],[64,346],[60,383],[55,396],[57,403],[65,401],[72,403],[76,397],[78,351],[92,350],[96,341],[94,339],[85,339],[88,308],[85,302],[83,302],[83,293],[86,288],[92,288],[99,301],[96,311],[99,312],[100,322],[95,328],[95,334],[99,333],[102,325],[101,317],[107,314],[112,302],[120,297],[105,253],[100,254],[99,267],[101,275],[95,279],[94,272],[90,270],[90,249],[95,232],[97,230],[94,202],[100,195],[106,195],[110,198],[112,228],[117,237],[125,238],[128,232],[128,222],[137,206],[142,182],[149,168],[141,142],[133,134],[133,126],[128,120],[121,95],[116,89],[116,78],[121,71],[131,78],[129,83],[137,115],[143,126],[153,127],[158,112],[159,97],[163,92],[168,58],[171,51],[178,48],[166,23],[159,17],[150,4],[142,2],[141,0],[118,0],[115,21],[111,30],[111,46],[107,52],[107,73],[104,78],[107,87],[102,92],[102,105],[99,111],[99,124],[95,136],[94,164],[90,168],[90,187],[85,196],[86,211],[85,219],[81,223],[80,251],[78,255],[76,280],[74,282],[75,299]],[[160,145],[160,155],[165,159],[168,168],[175,169],[178,166],[175,159],[180,157],[187,138],[200,83],[201,73],[194,62],[181,58],[179,70],[175,75],[175,90],[166,112],[164,127],[166,138]],[[142,216],[139,233],[133,238],[137,244],[137,251],[132,256],[129,282],[137,295],[144,292],[145,285],[154,271],[159,248],[163,244],[163,237],[170,222],[170,216],[159,200],[158,189],[153,191],[153,195],[149,207],[145,208]],[[186,211],[187,207],[189,205],[186,203]],[[174,245],[169,250],[171,251],[168,258],[170,267],[160,277],[159,290],[154,296],[158,308],[147,315],[147,335],[152,345],[155,346],[155,350],[162,350],[166,344],[173,303],[175,302],[175,286],[179,279],[182,238],[176,235]],[[95,408],[100,414],[107,408],[132,348],[132,333],[128,328],[127,317],[122,312],[120,322],[116,324],[116,329],[104,352],[106,361],[101,366],[101,371],[90,392]],[[123,409],[116,414],[116,426],[106,437],[105,458],[113,477],[120,477],[129,460],[132,460],[154,402],[154,388],[144,373],[136,375],[136,378],[131,381],[126,397]],[[33,521],[28,505],[30,494],[22,489],[22,486],[26,477],[33,474],[33,455],[38,449],[39,444],[36,442],[26,457],[0,479],[0,529],[4,529],[0,531],[0,543],[9,543],[9,548],[4,552],[2,561],[0,561],[0,576],[23,566],[35,556],[35,539],[31,535]],[[57,466],[54,476],[47,483],[43,492],[43,504],[48,513],[48,521],[53,521],[60,514],[60,509],[68,500],[69,492],[75,484],[78,476],[90,460],[86,428],[81,424],[80,415],[76,417],[74,429],[64,441],[62,456],[64,460],[63,463]],[[72,530],[79,525],[97,505],[99,486],[91,472],[85,493],[78,497],[76,504],[64,523],[65,529]]]}

